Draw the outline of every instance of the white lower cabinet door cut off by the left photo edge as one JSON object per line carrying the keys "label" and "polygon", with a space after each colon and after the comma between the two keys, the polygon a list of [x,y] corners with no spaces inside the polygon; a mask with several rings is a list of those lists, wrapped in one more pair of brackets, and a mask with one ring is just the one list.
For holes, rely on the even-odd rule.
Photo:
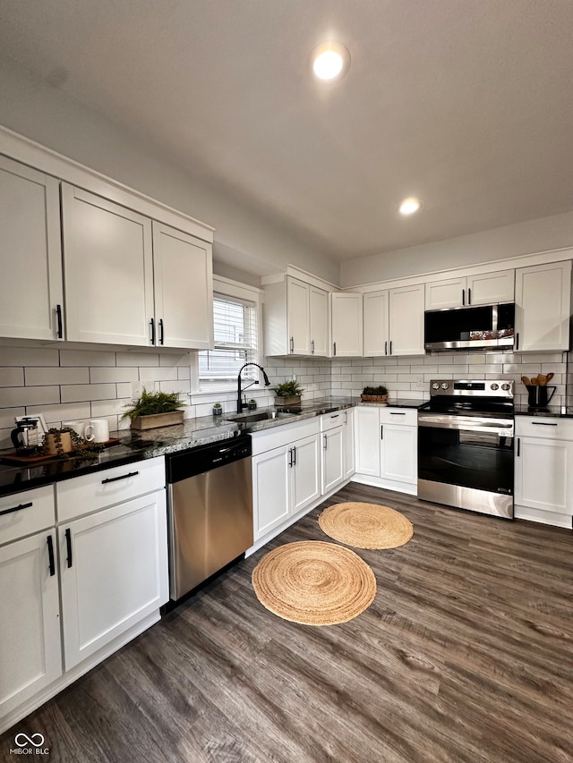
{"label": "white lower cabinet door cut off by the left photo edge", "polygon": [[[0,548],[0,716],[62,674],[56,562],[38,533]],[[50,573],[52,572],[52,573]]]}

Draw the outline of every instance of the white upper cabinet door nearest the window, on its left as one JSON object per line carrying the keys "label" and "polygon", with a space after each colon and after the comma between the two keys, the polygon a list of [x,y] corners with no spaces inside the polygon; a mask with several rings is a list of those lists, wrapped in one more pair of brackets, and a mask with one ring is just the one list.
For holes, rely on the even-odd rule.
{"label": "white upper cabinet door nearest the window, on its left", "polygon": [[156,344],[213,346],[211,246],[153,221]]}

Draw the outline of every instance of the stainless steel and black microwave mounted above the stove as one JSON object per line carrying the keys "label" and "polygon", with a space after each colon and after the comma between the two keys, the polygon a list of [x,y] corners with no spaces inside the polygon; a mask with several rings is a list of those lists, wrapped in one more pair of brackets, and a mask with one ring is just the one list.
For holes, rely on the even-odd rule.
{"label": "stainless steel and black microwave mounted above the stove", "polygon": [[423,314],[424,347],[431,351],[511,348],[515,315],[514,302],[426,310]]}

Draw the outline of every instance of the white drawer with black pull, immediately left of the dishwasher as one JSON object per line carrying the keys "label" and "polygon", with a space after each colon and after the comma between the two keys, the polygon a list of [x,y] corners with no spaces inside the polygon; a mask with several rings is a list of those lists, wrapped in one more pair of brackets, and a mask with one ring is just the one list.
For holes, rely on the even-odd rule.
{"label": "white drawer with black pull, immediately left of the dishwasher", "polygon": [[121,504],[165,487],[165,458],[126,463],[56,484],[57,521]]}

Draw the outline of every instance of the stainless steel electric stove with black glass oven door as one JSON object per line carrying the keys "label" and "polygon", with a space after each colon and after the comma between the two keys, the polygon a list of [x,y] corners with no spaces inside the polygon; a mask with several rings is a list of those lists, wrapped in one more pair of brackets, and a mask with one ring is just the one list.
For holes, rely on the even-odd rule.
{"label": "stainless steel electric stove with black glass oven door", "polygon": [[418,497],[513,518],[513,381],[434,379],[418,411]]}

